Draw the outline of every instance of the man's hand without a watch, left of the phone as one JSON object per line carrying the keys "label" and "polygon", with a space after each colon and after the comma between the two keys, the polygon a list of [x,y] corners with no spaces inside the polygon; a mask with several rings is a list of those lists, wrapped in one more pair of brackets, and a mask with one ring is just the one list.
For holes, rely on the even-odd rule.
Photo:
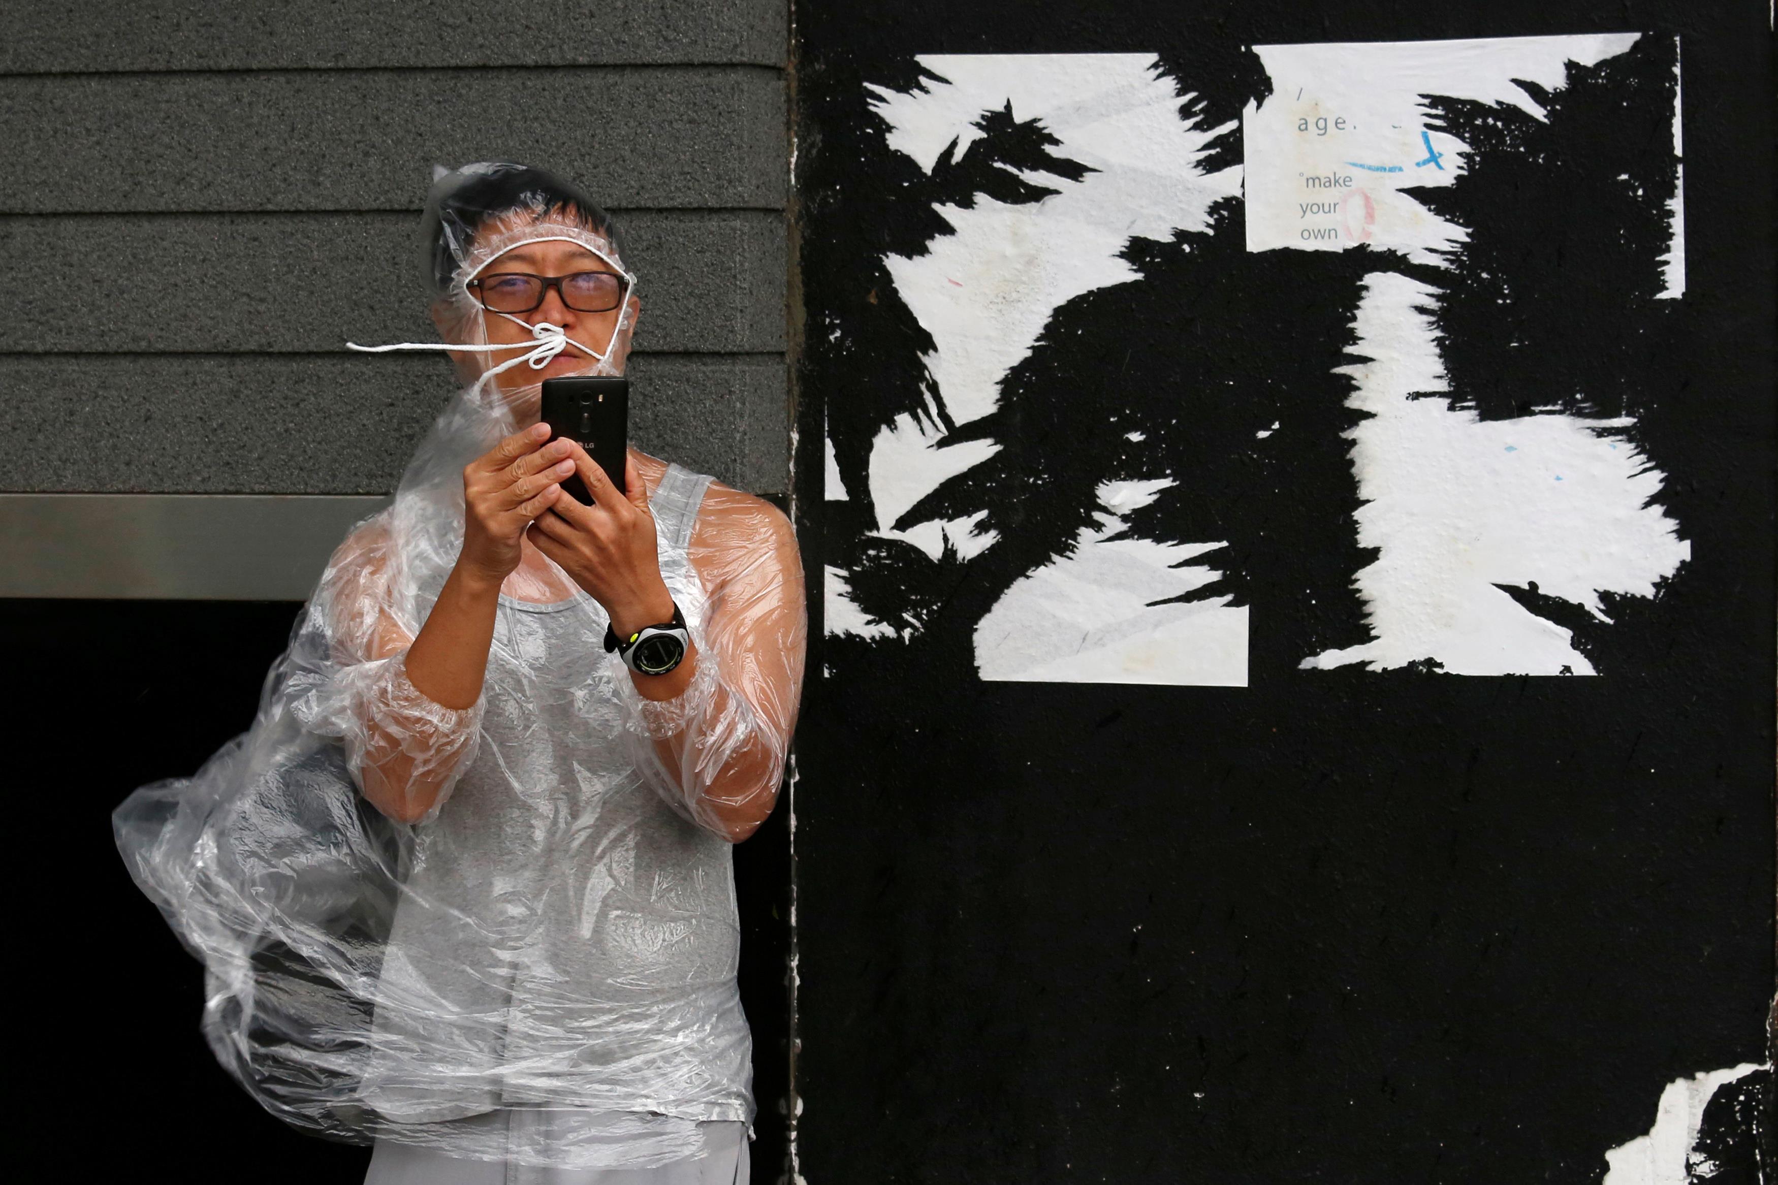
{"label": "man's hand without a watch, left of the phone", "polygon": [[562,497],[574,474],[569,442],[549,439],[549,425],[532,425],[462,469],[462,556],[459,567],[496,585],[519,567],[532,519]]}

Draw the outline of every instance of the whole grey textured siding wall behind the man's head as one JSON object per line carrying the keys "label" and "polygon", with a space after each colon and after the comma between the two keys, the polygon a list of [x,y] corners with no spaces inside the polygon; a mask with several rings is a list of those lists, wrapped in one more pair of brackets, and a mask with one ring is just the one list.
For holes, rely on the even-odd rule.
{"label": "whole grey textured siding wall behind the man's head", "polygon": [[[384,494],[452,391],[434,162],[621,220],[637,442],[786,489],[779,0],[7,5],[0,490]],[[41,506],[43,499],[32,499]]]}

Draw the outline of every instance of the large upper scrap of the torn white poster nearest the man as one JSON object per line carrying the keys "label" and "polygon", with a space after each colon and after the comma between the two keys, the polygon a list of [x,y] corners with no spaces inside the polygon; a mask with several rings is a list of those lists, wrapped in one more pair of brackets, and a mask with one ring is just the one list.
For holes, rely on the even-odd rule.
{"label": "large upper scrap of the torn white poster nearest the man", "polygon": [[946,82],[900,94],[877,91],[889,146],[926,171],[971,124],[1008,103],[1015,119],[1042,119],[1051,151],[1095,169],[1079,181],[1044,172],[1026,179],[1060,190],[1029,204],[976,197],[939,206],[955,227],[928,254],[885,265],[903,302],[932,334],[932,377],[958,425],[994,409],[997,384],[1037,341],[1058,306],[1134,279],[1118,259],[1133,236],[1170,238],[1209,226],[1209,206],[1237,192],[1237,171],[1205,176],[1204,144],[1218,130],[1179,119],[1173,80],[1152,53],[923,55]]}

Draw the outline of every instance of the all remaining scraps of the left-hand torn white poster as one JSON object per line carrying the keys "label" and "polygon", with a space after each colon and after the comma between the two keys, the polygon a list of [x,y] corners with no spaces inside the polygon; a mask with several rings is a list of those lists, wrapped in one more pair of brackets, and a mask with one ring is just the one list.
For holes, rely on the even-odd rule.
{"label": "all remaining scraps of the left-hand torn white poster", "polygon": [[[1056,307],[1136,279],[1118,254],[1133,236],[1166,240],[1175,229],[1209,227],[1213,203],[1239,192],[1239,171],[1204,174],[1204,146],[1223,128],[1181,121],[1181,96],[1152,53],[926,55],[944,82],[910,94],[875,89],[889,146],[926,171],[948,144],[960,156],[978,139],[971,124],[1008,103],[1015,119],[1042,119],[1060,144],[1051,151],[1093,169],[1079,181],[1022,172],[1058,194],[1031,204],[976,197],[973,208],[941,206],[955,229],[928,254],[885,258],[896,291],[932,334],[925,361],[958,425],[994,410],[999,384],[1037,343]],[[1140,437],[1134,437],[1140,439]],[[921,449],[925,455],[921,455]],[[937,556],[946,540],[980,554],[992,533],[973,521],[887,529],[900,513],[976,457],[946,457],[912,423],[878,435],[871,494],[882,533]],[[1166,485],[1163,480],[1159,485]],[[1136,497],[1108,485],[1104,497]],[[1152,494],[1150,494],[1152,496]],[[1127,512],[1131,505],[1118,503]],[[1093,682],[1246,684],[1246,609],[1227,599],[1202,606],[1143,602],[1218,577],[1207,567],[1172,567],[1220,544],[1108,542],[1108,508],[1072,556],[1026,576],[983,618],[976,659],[983,679]],[[1058,654],[1065,657],[1056,657]]]}

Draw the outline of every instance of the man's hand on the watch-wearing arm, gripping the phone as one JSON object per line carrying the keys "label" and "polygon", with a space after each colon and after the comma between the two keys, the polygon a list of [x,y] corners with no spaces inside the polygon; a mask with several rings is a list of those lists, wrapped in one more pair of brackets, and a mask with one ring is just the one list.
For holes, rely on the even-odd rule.
{"label": "man's hand on the watch-wearing arm, gripping the phone", "polygon": [[672,593],[661,579],[654,515],[635,460],[624,455],[628,492],[619,492],[587,449],[573,441],[558,442],[569,446],[594,505],[557,497],[532,522],[532,544],[605,606],[619,636],[665,622],[672,616]]}

